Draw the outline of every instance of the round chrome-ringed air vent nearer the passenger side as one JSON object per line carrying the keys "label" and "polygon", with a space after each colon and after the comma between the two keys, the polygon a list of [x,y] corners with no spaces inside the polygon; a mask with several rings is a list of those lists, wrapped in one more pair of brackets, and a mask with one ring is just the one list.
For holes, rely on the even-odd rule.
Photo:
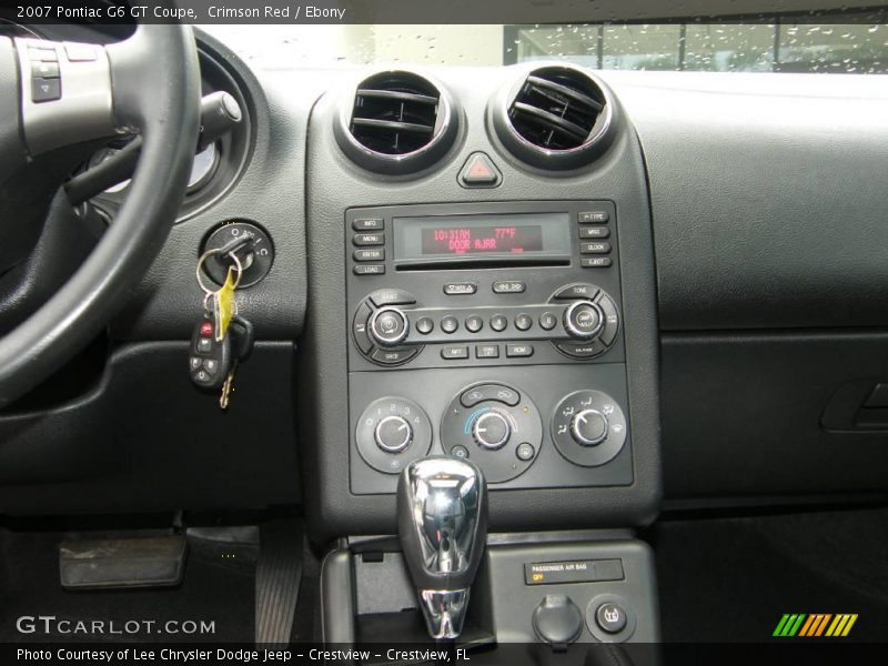
{"label": "round chrome-ringed air vent nearer the passenger side", "polygon": [[576,169],[606,147],[613,102],[597,78],[556,64],[531,71],[498,100],[494,125],[516,157],[543,169]]}

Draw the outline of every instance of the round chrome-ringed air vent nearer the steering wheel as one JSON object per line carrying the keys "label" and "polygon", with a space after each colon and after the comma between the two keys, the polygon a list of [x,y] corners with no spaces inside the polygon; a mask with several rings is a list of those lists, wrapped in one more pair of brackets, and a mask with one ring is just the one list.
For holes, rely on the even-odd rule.
{"label": "round chrome-ringed air vent nearer the steering wheel", "polygon": [[406,71],[362,81],[343,105],[336,137],[355,162],[380,173],[421,171],[453,143],[456,123],[440,85]]}

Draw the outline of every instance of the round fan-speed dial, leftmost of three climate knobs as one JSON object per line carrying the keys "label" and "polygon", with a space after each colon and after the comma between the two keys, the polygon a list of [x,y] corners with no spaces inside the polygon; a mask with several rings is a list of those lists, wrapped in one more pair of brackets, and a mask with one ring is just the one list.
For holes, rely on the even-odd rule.
{"label": "round fan-speed dial, leftmost of three climate knobs", "polygon": [[367,465],[384,474],[398,474],[428,453],[432,423],[412,400],[381,397],[359,416],[355,445]]}

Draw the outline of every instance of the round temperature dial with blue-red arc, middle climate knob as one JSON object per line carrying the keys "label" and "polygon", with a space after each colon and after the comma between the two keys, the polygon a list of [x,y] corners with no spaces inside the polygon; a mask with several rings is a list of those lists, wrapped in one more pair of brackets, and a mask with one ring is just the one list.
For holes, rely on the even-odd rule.
{"label": "round temperature dial with blue-red arc, middle climate knob", "polygon": [[471,452],[487,483],[504,483],[526,472],[539,457],[543,424],[534,403],[514,386],[467,386],[444,410],[441,445],[456,455]]}

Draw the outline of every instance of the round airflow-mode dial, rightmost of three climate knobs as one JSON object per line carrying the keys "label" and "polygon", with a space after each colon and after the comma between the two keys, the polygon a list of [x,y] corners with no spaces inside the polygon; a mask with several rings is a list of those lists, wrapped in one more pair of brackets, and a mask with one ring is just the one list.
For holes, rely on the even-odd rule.
{"label": "round airflow-mode dial, rightmost of three climate knobs", "polygon": [[601,391],[577,391],[555,407],[549,425],[555,447],[583,467],[614,460],[627,438],[627,422],[619,404]]}

